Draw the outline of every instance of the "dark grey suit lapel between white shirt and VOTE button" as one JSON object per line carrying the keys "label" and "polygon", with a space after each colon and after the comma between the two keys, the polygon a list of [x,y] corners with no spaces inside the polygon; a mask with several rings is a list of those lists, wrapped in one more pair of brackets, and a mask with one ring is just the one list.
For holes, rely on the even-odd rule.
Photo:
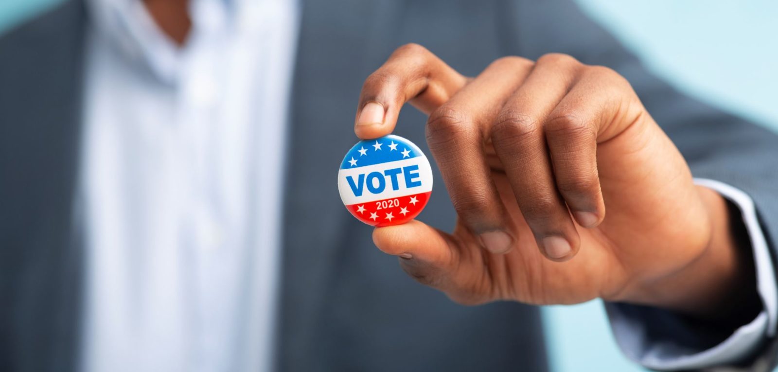
{"label": "dark grey suit lapel between white shirt and VOTE button", "polygon": [[[342,254],[356,223],[338,196],[338,164],[357,142],[352,123],[363,79],[391,48],[390,0],[303,5],[288,135],[279,367],[308,370],[307,357]],[[357,68],[355,68],[357,66]]]}

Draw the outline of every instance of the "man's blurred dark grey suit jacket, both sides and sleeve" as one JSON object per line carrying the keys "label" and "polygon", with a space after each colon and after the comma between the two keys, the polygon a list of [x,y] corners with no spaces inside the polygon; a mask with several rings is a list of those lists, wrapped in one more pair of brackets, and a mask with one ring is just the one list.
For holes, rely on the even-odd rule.
{"label": "man's blurred dark grey suit jacket, both sides and sleeve", "polygon": [[[84,264],[73,197],[86,24],[82,4],[68,2],[0,38],[0,370],[79,363]],[[356,142],[363,79],[407,42],[468,75],[503,55],[551,51],[615,68],[693,173],[748,192],[764,230],[778,237],[776,135],[679,94],[570,2],[309,1],[301,25],[291,138],[318,156],[289,154],[279,369],[547,369],[536,308],[450,303],[377,251],[371,229],[338,198],[335,174]],[[397,133],[426,151],[424,123],[405,110]],[[436,188],[419,218],[450,229],[454,216]]]}

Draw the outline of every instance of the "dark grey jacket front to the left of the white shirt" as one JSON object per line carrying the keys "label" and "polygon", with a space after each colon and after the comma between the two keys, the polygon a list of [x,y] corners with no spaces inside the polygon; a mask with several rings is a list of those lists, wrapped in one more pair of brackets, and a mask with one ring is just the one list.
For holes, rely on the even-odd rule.
{"label": "dark grey jacket front to the left of the white shirt", "polygon": [[84,23],[82,4],[67,2],[0,40],[9,51],[0,58],[0,283],[9,285],[2,304],[12,304],[0,311],[0,349],[9,350],[0,366],[18,370],[78,363],[82,251],[72,221]]}

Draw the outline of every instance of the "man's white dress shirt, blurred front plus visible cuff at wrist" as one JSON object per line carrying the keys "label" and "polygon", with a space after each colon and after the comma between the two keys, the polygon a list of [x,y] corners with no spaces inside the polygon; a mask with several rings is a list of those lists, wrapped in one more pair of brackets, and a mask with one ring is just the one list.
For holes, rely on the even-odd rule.
{"label": "man's white dress shirt, blurred front plus visible cuff at wrist", "polygon": [[[82,369],[268,370],[296,3],[192,0],[184,47],[139,0],[89,5]],[[741,207],[765,309],[697,351],[647,339],[650,321],[609,305],[622,349],[647,367],[737,360],[775,330],[775,275],[751,199],[698,182]]]}

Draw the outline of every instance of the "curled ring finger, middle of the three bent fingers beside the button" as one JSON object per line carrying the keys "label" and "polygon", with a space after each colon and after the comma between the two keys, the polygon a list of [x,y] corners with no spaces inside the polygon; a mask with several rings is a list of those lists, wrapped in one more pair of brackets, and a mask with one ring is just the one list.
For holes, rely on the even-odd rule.
{"label": "curled ring finger, middle of the three bent fingers beside the button", "polygon": [[572,258],[580,238],[555,186],[543,125],[573,85],[580,66],[562,54],[546,54],[538,59],[492,128],[492,144],[521,214],[538,247],[554,261]]}

